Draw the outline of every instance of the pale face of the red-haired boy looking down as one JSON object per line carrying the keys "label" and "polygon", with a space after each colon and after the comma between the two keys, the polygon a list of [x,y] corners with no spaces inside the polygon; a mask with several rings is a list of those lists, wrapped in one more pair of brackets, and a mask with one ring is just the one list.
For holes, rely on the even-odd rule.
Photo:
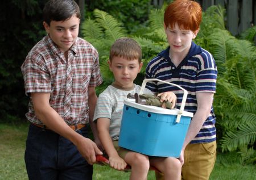
{"label": "pale face of the red-haired boy looking down", "polygon": [[175,23],[174,28],[166,27],[164,24],[164,29],[166,31],[171,53],[184,53],[185,55],[187,55],[191,47],[192,39],[196,38],[199,31],[192,32],[191,30],[183,30],[177,23]]}

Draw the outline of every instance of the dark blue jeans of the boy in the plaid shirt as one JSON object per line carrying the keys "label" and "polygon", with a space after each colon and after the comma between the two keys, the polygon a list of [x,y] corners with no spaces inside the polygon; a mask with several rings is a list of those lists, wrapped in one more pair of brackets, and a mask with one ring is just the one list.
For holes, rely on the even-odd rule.
{"label": "dark blue jeans of the boy in the plaid shirt", "polygon": [[[76,132],[88,137],[87,129]],[[92,179],[93,166],[71,141],[33,124],[28,129],[25,162],[29,179]]]}

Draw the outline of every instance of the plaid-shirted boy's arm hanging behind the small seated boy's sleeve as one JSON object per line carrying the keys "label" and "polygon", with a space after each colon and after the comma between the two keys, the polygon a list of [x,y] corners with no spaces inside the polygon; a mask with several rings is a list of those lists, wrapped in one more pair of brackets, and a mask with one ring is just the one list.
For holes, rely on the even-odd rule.
{"label": "plaid-shirted boy's arm hanging behind the small seated boy's sleeve", "polygon": [[88,106],[89,106],[89,124],[90,128],[92,129],[93,136],[94,136],[94,142],[97,144],[98,148],[103,150],[101,141],[98,137],[98,130],[97,130],[97,125],[93,123],[93,116],[94,116],[94,109],[97,103],[97,95],[95,92],[94,87],[89,87],[88,88]]}

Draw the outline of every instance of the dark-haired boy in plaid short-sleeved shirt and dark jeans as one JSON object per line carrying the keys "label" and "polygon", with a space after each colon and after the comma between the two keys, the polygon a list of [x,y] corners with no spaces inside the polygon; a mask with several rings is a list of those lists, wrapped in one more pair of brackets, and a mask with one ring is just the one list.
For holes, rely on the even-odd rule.
{"label": "dark-haired boy in plaid short-sleeved shirt and dark jeans", "polygon": [[[73,0],[50,0],[43,37],[22,64],[28,130],[25,162],[29,179],[92,179],[96,154],[88,137],[100,85],[98,52],[79,34],[80,10]],[[96,127],[92,130],[98,140]]]}

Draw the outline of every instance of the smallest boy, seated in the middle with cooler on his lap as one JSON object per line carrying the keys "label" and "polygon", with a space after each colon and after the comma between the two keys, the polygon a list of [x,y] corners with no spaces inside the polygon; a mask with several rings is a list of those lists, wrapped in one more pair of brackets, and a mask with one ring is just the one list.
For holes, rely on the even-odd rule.
{"label": "smallest boy, seated in the middle with cooler on his lap", "polygon": [[[108,154],[110,166],[123,170],[131,166],[130,179],[146,179],[150,165],[162,171],[165,179],[179,179],[181,164],[174,157],[148,157],[118,146],[119,131],[123,112],[123,100],[127,94],[139,93],[141,86],[133,83],[142,68],[142,52],[139,44],[129,38],[115,41],[110,49],[109,68],[114,74],[114,82],[98,97],[94,111],[94,121],[101,143]],[[146,94],[152,94],[148,89]],[[160,101],[176,102],[174,93],[158,94]],[[127,163],[127,164],[126,164]]]}

